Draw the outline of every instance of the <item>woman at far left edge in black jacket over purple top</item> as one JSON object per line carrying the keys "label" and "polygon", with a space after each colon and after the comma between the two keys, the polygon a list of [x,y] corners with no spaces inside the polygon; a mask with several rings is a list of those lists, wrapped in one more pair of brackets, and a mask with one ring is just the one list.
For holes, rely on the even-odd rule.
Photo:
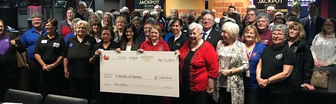
{"label": "woman at far left edge in black jacket over purple top", "polygon": [[18,37],[6,31],[5,23],[0,19],[0,102],[7,89],[18,89],[20,69],[17,65],[16,51],[23,53],[26,48]]}

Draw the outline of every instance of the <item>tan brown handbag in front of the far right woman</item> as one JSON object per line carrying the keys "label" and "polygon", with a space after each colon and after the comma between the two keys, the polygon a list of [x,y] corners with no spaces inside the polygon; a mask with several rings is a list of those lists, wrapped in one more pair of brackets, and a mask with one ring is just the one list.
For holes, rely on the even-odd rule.
{"label": "tan brown handbag in front of the far right woman", "polygon": [[328,83],[329,83],[329,71],[320,71],[313,69],[310,85],[314,87],[328,88]]}

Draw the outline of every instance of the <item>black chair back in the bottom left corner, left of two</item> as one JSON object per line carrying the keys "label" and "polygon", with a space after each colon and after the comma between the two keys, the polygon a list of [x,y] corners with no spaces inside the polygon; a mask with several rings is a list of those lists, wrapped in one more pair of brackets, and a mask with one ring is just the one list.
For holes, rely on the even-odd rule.
{"label": "black chair back in the bottom left corner, left of two", "polygon": [[3,98],[3,102],[41,104],[42,95],[39,93],[8,89]]}

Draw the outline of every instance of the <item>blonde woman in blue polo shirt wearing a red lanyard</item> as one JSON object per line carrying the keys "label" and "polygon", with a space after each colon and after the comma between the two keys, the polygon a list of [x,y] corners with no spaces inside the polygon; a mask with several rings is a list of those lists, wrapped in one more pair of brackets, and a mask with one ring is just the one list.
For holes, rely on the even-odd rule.
{"label": "blonde woman in blue polo shirt wearing a red lanyard", "polygon": [[260,43],[258,30],[253,25],[246,26],[242,36],[242,41],[246,45],[247,59],[249,60],[249,70],[244,75],[245,104],[259,104],[260,97],[258,83],[256,79],[256,68],[260,60],[260,55],[266,47]]}

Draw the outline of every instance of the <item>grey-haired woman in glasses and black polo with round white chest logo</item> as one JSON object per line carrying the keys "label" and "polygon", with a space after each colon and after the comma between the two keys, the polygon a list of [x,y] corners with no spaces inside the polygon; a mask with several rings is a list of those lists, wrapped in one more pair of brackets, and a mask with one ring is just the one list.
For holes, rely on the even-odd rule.
{"label": "grey-haired woman in glasses and black polo with round white chest logo", "polygon": [[288,104],[291,93],[291,72],[295,64],[295,53],[285,42],[288,28],[275,25],[272,30],[273,45],[267,46],[257,65],[256,79],[261,102],[264,104]]}

